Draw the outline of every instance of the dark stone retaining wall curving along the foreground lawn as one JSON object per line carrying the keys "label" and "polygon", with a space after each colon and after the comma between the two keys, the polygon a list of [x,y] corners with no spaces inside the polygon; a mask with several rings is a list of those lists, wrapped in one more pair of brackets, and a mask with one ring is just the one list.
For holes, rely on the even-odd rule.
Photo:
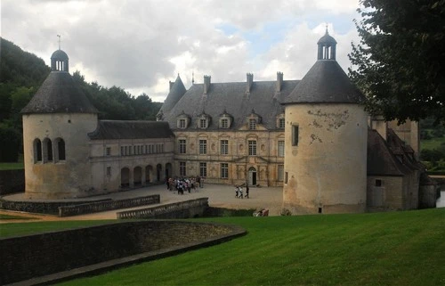
{"label": "dark stone retaining wall curving along the foreground lawn", "polygon": [[19,282],[181,245],[190,248],[192,241],[208,245],[215,238],[216,244],[245,233],[240,230],[232,225],[158,220],[4,238],[0,240],[0,281]]}

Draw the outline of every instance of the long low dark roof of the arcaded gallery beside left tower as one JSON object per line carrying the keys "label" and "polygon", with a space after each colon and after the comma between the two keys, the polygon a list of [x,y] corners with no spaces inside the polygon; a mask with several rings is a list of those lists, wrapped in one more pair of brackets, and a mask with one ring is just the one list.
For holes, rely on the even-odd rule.
{"label": "long low dark roof of the arcaded gallery beside left tower", "polygon": [[142,120],[99,120],[97,129],[88,134],[92,140],[170,138],[174,136],[167,122]]}

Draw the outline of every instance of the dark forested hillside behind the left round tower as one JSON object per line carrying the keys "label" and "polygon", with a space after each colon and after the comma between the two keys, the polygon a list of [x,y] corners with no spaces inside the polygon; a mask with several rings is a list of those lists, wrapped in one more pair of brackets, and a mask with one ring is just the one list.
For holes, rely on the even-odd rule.
{"label": "dark forested hillside behind the left round tower", "polygon": [[[0,162],[15,162],[23,150],[20,110],[44,82],[50,68],[12,42],[2,37],[0,42]],[[155,120],[162,105],[152,102],[147,94],[135,97],[118,86],[87,83],[78,71],[73,78],[99,110],[101,119]]]}

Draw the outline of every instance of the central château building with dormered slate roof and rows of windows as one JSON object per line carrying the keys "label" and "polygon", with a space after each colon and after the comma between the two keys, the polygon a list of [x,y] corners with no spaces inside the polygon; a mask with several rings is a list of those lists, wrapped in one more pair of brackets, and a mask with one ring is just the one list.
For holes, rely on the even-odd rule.
{"label": "central ch\u00e2teau building with dormered slate roof and rows of windows", "polygon": [[282,186],[285,110],[281,102],[297,80],[203,84],[186,90],[178,76],[170,83],[159,121],[172,128],[174,174],[200,176],[207,183]]}

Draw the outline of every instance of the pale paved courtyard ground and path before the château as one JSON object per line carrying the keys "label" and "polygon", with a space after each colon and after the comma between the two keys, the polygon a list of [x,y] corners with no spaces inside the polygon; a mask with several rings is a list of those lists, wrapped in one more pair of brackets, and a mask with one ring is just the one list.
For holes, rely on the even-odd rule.
{"label": "pale paved courtyard ground and path before the ch\u00e2teau", "polygon": [[[140,189],[134,189],[125,192],[115,192],[106,195],[95,196],[94,199],[113,199],[122,200],[128,198],[135,198],[141,196],[147,196],[150,194],[160,195],[160,204],[150,205],[150,207],[173,203],[182,200],[193,200],[198,198],[208,198],[209,205],[211,207],[217,208],[269,208],[270,216],[279,216],[281,210],[281,203],[283,200],[282,187],[251,187],[249,193],[249,199],[237,199],[235,198],[235,188],[231,185],[223,184],[205,184],[204,188],[198,188],[197,192],[193,190],[189,192],[184,192],[183,195],[177,192],[168,191],[166,185],[154,185],[150,187],[144,187]],[[244,192],[246,194],[246,192]],[[93,198],[88,198],[91,200]],[[28,200],[26,199],[24,193],[15,193],[12,195],[4,196],[4,200]],[[82,200],[82,199],[75,199]],[[85,199],[84,199],[85,200]],[[142,206],[138,208],[148,208],[148,206]],[[90,220],[90,219],[116,219],[117,211],[123,211],[127,209],[137,209],[137,208],[122,208],[118,210],[111,210],[101,213],[94,213],[75,217],[56,217],[49,215],[39,215],[39,214],[27,214],[18,213],[6,210],[0,210],[0,214],[10,214],[10,215],[20,215],[29,217],[38,217],[39,220]],[[19,221],[19,220],[17,220]],[[17,222],[14,220],[14,222]],[[20,220],[22,222],[29,222],[30,220]],[[11,223],[12,220],[4,220],[2,223]]]}

